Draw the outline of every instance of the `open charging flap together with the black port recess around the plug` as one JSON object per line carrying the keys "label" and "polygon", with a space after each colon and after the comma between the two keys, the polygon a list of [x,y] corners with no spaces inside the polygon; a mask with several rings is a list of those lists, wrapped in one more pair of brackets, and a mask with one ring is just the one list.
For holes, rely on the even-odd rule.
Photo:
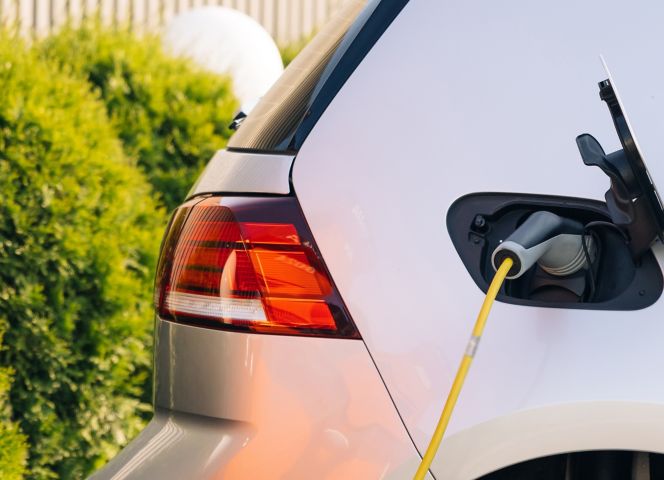
{"label": "open charging flap together with the black port recess around the plug", "polygon": [[606,153],[592,135],[584,133],[576,138],[584,164],[601,168],[609,177],[606,203],[544,194],[480,192],[457,199],[448,210],[452,242],[484,292],[500,263],[495,261],[496,252],[507,251],[507,247],[501,248],[503,242],[507,245],[534,215],[566,219],[577,225],[577,237],[592,237],[592,242],[584,240],[587,251],[574,257],[574,265],[582,268],[561,274],[538,261],[520,276],[508,276],[511,279],[498,294],[498,301],[537,307],[639,310],[662,294],[664,279],[651,246],[658,239],[664,240],[664,208],[615,80],[608,68],[606,71],[608,78],[599,82],[599,96],[609,109],[622,148]]}

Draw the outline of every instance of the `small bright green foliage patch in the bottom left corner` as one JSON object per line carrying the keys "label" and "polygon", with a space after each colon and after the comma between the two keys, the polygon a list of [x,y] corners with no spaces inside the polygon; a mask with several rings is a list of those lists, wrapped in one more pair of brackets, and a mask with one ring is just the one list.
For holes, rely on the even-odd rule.
{"label": "small bright green foliage patch in the bottom left corner", "polygon": [[[0,325],[0,345],[5,328],[4,324]],[[10,368],[0,368],[0,478],[20,480],[25,473],[28,446],[25,436],[11,419],[12,409],[7,397],[12,373]]]}

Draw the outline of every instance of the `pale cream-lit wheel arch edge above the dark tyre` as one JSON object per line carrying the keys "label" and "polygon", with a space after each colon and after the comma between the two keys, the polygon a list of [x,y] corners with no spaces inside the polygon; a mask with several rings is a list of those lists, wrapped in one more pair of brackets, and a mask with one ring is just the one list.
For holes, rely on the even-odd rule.
{"label": "pale cream-lit wheel arch edge above the dark tyre", "polygon": [[522,410],[463,430],[444,442],[433,469],[439,479],[468,479],[543,455],[590,450],[650,452],[653,445],[662,451],[661,404],[573,403]]}

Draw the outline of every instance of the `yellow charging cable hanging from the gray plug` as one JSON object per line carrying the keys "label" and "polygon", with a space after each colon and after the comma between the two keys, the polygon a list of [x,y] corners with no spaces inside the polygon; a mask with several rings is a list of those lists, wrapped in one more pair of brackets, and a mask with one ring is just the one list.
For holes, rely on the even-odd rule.
{"label": "yellow charging cable hanging from the gray plug", "polygon": [[486,292],[486,297],[484,298],[484,303],[482,304],[480,313],[477,316],[477,320],[475,321],[473,334],[468,341],[466,352],[461,359],[461,365],[459,365],[459,369],[457,370],[457,374],[454,378],[454,383],[452,383],[450,393],[447,395],[447,400],[445,401],[443,412],[440,414],[440,420],[438,420],[436,430],[433,432],[433,436],[431,437],[427,451],[422,457],[422,461],[420,462],[420,466],[418,467],[413,480],[422,480],[429,471],[429,467],[431,467],[431,462],[433,461],[433,457],[436,456],[440,442],[443,439],[445,430],[447,429],[447,424],[450,423],[452,411],[454,410],[456,401],[459,398],[461,389],[463,388],[463,382],[466,380],[466,375],[468,375],[468,370],[470,369],[470,364],[472,363],[473,357],[475,356],[477,345],[480,342],[480,338],[482,338],[482,333],[484,332],[484,326],[486,325],[486,319],[488,318],[489,312],[491,311],[491,306],[496,299],[496,295],[498,295],[500,287],[505,281],[507,273],[510,271],[510,268],[512,268],[512,263],[513,262],[511,258],[506,258],[503,260],[503,263],[500,265],[500,268],[498,271],[496,271],[496,275],[491,281],[489,290]]}

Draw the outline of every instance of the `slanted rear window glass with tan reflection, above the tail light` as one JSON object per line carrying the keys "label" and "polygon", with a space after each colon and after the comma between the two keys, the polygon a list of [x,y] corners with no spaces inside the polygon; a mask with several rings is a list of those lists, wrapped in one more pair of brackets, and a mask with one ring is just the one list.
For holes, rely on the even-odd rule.
{"label": "slanted rear window glass with tan reflection, above the tail light", "polygon": [[344,5],[288,65],[244,119],[228,147],[262,151],[280,147],[299,124],[323,70],[366,4],[367,0],[350,0]]}

